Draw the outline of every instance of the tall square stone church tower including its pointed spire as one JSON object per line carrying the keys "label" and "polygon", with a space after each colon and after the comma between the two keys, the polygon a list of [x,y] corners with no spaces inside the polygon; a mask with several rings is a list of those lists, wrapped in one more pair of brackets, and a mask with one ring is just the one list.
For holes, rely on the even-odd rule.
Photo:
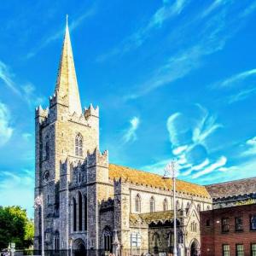
{"label": "tall square stone church tower including its pointed spire", "polygon": [[[69,247],[72,165],[99,148],[99,109],[81,108],[73,50],[66,25],[61,60],[49,107],[35,112],[35,198],[43,198],[44,249]],[[88,153],[89,152],[89,153]],[[71,164],[72,163],[72,164]],[[34,247],[42,247],[41,208],[35,209]]]}

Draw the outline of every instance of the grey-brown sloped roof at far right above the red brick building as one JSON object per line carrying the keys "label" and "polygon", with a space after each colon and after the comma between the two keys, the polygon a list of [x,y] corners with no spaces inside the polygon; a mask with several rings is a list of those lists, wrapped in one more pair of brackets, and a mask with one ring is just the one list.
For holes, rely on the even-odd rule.
{"label": "grey-brown sloped roof at far right above the red brick building", "polygon": [[256,177],[211,184],[207,185],[206,188],[212,198],[256,193]]}

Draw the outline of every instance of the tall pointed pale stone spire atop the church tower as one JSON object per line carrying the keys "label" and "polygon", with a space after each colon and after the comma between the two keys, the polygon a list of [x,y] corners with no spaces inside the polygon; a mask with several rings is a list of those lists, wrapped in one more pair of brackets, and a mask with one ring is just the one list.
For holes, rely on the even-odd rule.
{"label": "tall pointed pale stone spire atop the church tower", "polygon": [[60,100],[62,99],[63,102],[67,102],[70,113],[82,113],[68,22],[66,24],[55,93]]}

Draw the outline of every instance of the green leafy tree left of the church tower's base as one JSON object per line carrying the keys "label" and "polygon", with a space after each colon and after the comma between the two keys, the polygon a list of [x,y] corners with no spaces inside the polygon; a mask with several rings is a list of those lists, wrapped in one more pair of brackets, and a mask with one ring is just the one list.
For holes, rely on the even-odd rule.
{"label": "green leafy tree left of the church tower's base", "polygon": [[26,210],[0,207],[0,249],[8,247],[9,242],[15,242],[17,248],[30,247],[33,236],[33,222],[27,218]]}

